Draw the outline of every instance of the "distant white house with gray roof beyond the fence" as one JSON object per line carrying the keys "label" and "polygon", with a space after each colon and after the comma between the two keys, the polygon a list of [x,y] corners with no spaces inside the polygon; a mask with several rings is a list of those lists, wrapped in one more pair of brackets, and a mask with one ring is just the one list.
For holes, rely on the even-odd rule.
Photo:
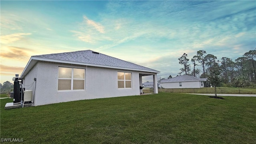
{"label": "distant white house with gray roof beyond the fence", "polygon": [[194,76],[182,75],[158,82],[163,88],[204,88],[206,78],[196,78]]}

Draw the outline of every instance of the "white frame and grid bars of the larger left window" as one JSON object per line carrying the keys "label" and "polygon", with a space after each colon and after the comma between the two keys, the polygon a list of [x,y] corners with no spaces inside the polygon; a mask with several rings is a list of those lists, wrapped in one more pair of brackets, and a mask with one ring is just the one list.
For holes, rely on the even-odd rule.
{"label": "white frame and grid bars of the larger left window", "polygon": [[[79,91],[79,90],[85,90],[85,72],[86,70],[84,68],[76,68],[76,69],[82,69],[84,70],[84,78],[74,78],[74,68],[70,68],[72,70],[71,72],[71,78],[59,78],[59,68],[69,68],[69,67],[58,67],[58,83],[57,83],[57,90],[59,87],[59,80],[71,80],[71,90],[58,90],[58,91]],[[84,89],[79,89],[79,90],[73,90],[73,84],[74,80],[84,80]]]}

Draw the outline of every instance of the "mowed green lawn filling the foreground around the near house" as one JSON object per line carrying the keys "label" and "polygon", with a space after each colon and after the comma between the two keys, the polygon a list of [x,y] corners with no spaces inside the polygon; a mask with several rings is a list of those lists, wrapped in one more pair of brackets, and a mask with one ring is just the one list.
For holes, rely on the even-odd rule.
{"label": "mowed green lawn filling the foreground around the near house", "polygon": [[[253,144],[256,97],[160,93],[4,110],[1,138],[35,143]],[[14,143],[14,142],[12,142]]]}

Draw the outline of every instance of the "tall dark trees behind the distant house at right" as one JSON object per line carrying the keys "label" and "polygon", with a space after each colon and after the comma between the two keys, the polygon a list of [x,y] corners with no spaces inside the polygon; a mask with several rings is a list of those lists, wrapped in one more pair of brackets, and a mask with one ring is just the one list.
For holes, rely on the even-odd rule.
{"label": "tall dark trees behind the distant house at right", "polygon": [[[178,74],[184,73],[195,77],[208,78],[208,83],[205,86],[210,86],[212,83],[210,81],[215,79],[215,84],[211,84],[212,86],[256,87],[256,50],[250,50],[236,60],[227,57],[217,60],[216,56],[207,54],[205,50],[197,51],[191,60],[188,59],[186,53],[178,60],[179,64],[183,66]],[[192,70],[190,62],[192,63]],[[202,74],[196,66],[202,66]]]}

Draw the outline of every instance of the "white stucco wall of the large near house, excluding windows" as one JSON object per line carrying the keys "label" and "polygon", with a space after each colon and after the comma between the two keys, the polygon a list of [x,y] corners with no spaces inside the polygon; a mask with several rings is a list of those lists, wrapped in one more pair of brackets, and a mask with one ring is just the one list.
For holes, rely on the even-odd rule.
{"label": "white stucco wall of the large near house, excluding windows", "polygon": [[[85,90],[58,91],[58,67],[84,68]],[[85,100],[94,98],[109,98],[117,96],[139,95],[139,72],[129,70],[117,70],[111,68],[99,68],[92,66],[78,66],[51,62],[38,62],[25,76],[27,80],[36,80],[35,106]],[[118,89],[117,72],[132,73],[132,88]],[[31,83],[26,82],[26,83]],[[34,90],[33,90],[34,92]]]}

